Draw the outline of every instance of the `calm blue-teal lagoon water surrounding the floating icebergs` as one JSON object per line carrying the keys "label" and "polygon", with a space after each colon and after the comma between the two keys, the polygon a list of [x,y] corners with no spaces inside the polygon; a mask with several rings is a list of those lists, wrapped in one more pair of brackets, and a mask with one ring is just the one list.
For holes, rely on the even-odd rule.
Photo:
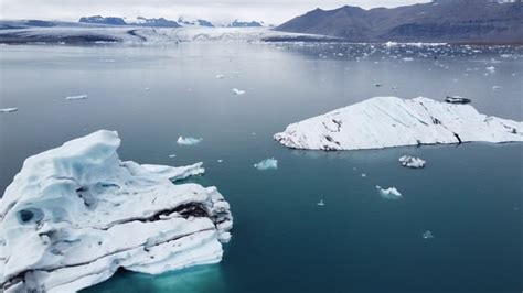
{"label": "calm blue-teal lagoon water surrounding the floating icebergs", "polygon": [[[195,181],[235,217],[223,262],[85,292],[521,292],[523,144],[325,153],[271,135],[374,96],[459,95],[522,120],[522,93],[521,47],[1,46],[0,108],[19,111],[0,113],[0,189],[26,156],[98,129],[119,132],[122,160],[204,162]],[[402,167],[404,154],[426,169]],[[277,170],[253,166],[269,158]]]}

